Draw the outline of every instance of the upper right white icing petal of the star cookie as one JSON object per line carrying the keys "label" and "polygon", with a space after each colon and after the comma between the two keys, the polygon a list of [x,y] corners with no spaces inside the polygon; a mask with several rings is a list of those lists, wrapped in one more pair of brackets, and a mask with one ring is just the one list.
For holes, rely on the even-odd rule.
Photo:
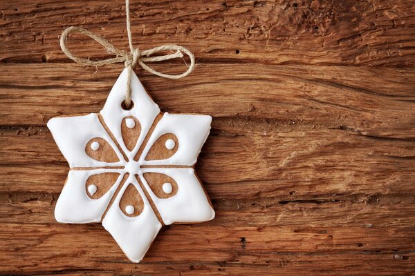
{"label": "upper right white icing petal of the star cookie", "polygon": [[[196,163],[205,140],[210,132],[212,117],[208,115],[170,115],[165,113],[160,119],[140,156],[144,165],[181,165],[192,166]],[[172,133],[178,141],[174,155],[162,160],[146,160],[151,146],[166,133]]]}

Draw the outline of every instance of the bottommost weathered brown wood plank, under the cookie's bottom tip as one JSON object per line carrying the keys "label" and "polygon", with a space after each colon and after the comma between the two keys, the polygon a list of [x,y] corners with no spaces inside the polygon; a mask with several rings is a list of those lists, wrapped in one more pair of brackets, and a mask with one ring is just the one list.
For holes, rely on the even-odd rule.
{"label": "bottommost weathered brown wood plank, under the cookie's bottom tip", "polygon": [[[399,272],[414,268],[414,262],[409,259],[414,254],[409,252],[408,255],[405,250],[414,246],[410,236],[414,235],[411,228],[363,230],[344,227],[326,228],[326,232],[319,233],[318,230],[301,232],[289,227],[220,229],[208,227],[208,224],[170,227],[160,233],[141,264],[127,262],[109,233],[98,224],[53,227],[39,224],[3,224],[4,230],[0,235],[8,243],[0,244],[2,252],[6,253],[0,257],[0,269],[3,272],[12,269],[16,273],[28,274],[59,270],[150,273],[159,270],[194,270],[192,266],[196,266],[196,270],[199,268],[202,272],[208,270],[210,273],[220,272],[217,270],[219,268],[230,267],[231,272],[239,274],[246,267],[252,273],[258,267],[271,269],[275,266],[274,269],[279,269],[288,266],[285,268],[286,275],[293,275],[293,270],[296,269],[317,273],[318,270],[313,270],[317,268],[331,275],[337,270],[338,273],[335,274],[350,275],[349,271],[342,269],[351,268],[352,260],[358,271],[367,270],[367,275],[376,275],[379,271],[386,273],[386,265],[403,266]],[[16,229],[19,231],[15,231]],[[33,239],[34,235],[37,239]],[[203,240],[201,237],[204,237]],[[245,237],[243,242],[242,237]],[[389,249],[398,239],[401,245]],[[361,244],[356,244],[356,241],[361,241]],[[215,244],[214,247],[211,246],[212,243]],[[287,244],[292,247],[287,247]],[[365,250],[367,244],[373,246],[372,249],[376,252]],[[340,251],[336,254],[331,251],[333,248]],[[309,253],[299,253],[299,250]],[[394,257],[395,255],[405,259]],[[172,256],[175,256],[174,259]],[[25,261],[19,267],[11,267],[10,264],[15,259]],[[335,266],[327,266],[325,259],[329,263],[336,262]],[[385,263],[382,264],[381,261]],[[365,262],[371,262],[372,266],[376,264],[376,268],[369,270],[364,265]],[[271,273],[272,271],[279,270],[270,270]]]}

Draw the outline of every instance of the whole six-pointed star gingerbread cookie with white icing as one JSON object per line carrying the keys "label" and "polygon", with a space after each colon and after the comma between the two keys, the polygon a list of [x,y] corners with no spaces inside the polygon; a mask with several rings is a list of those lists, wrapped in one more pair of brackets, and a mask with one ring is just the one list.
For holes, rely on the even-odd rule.
{"label": "whole six-pointed star gingerbread cookie with white icing", "polygon": [[125,110],[126,85],[124,69],[100,114],[48,121],[71,168],[55,218],[102,221],[125,255],[140,262],[163,224],[214,218],[193,168],[212,117],[160,112],[134,72],[133,106]]}

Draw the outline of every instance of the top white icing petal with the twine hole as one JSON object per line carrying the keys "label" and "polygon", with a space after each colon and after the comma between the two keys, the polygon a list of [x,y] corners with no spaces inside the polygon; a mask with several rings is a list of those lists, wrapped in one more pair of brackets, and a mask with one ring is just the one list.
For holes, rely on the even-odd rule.
{"label": "top white icing petal with the twine hole", "polygon": [[[127,68],[125,68],[120,77],[118,77],[111,92],[109,93],[107,102],[104,108],[101,110],[101,115],[104,118],[105,124],[107,124],[109,130],[111,130],[114,137],[117,139],[118,144],[129,159],[132,159],[138,148],[141,146],[142,141],[145,139],[145,135],[151,128],[154,119],[160,113],[160,108],[149,97],[145,88],[138,80],[137,75],[131,72],[131,100],[133,101],[133,108],[130,110],[124,110],[122,108],[122,102],[125,99],[125,92],[127,91]],[[133,150],[129,152],[127,146],[122,139],[122,130],[120,128],[122,119],[125,117],[135,117],[140,121],[141,133],[138,137],[138,141]]]}

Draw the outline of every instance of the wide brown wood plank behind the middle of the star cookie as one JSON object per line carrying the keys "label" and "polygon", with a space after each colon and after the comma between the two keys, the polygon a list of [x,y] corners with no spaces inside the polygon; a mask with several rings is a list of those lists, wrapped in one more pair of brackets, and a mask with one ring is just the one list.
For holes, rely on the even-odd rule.
{"label": "wide brown wood plank behind the middle of the star cookie", "polygon": [[[344,130],[213,132],[196,166],[213,199],[413,193],[412,140]],[[3,129],[0,138],[1,191],[60,192],[68,167],[46,128]]]}

